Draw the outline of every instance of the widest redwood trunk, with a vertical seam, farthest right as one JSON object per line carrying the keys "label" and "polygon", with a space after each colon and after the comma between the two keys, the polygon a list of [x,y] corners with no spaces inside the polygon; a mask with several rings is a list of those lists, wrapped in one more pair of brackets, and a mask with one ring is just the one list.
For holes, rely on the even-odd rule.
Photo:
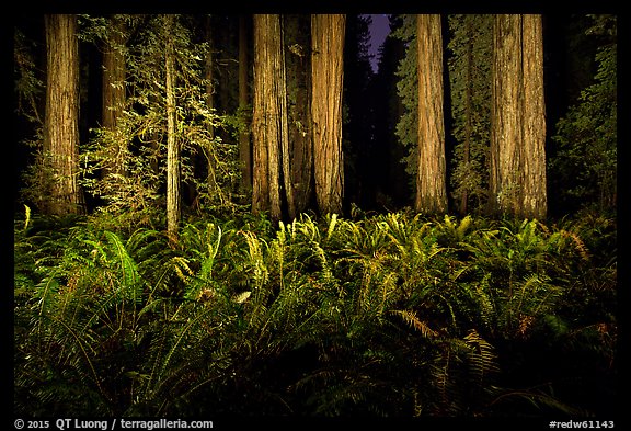
{"label": "widest redwood trunk, with a vertical seam, farthest right", "polygon": [[540,15],[496,15],[493,27],[491,209],[546,217],[546,113]]}

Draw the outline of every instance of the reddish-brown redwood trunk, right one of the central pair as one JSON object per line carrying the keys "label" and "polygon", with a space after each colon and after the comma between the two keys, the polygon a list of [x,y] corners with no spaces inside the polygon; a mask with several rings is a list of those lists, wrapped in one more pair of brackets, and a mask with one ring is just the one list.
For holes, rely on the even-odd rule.
{"label": "reddish-brown redwood trunk, right one of the central pair", "polygon": [[311,15],[313,173],[321,213],[342,213],[342,90],[346,16]]}

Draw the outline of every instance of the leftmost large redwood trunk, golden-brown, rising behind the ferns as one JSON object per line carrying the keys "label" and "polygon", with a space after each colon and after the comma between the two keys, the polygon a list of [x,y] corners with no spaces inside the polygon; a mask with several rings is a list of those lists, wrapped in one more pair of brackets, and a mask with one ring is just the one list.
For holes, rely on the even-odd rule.
{"label": "leftmost large redwood trunk, golden-brown, rising behind the ferns", "polygon": [[79,42],[76,15],[46,15],[46,116],[43,174],[50,173],[44,197],[48,214],[84,213],[78,183]]}

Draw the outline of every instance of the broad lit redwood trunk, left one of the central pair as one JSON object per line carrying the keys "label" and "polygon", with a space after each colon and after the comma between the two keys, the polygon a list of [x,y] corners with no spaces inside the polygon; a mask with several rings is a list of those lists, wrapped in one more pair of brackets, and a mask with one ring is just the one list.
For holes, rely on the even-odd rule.
{"label": "broad lit redwood trunk, left one of the central pair", "polygon": [[282,175],[289,211],[292,188],[287,140],[285,56],[279,15],[254,15],[254,112],[252,211],[283,216]]}

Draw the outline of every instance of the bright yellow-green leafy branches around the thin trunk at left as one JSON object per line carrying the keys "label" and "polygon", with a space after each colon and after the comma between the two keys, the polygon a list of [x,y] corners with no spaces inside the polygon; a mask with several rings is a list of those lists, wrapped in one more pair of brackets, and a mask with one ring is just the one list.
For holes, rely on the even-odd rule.
{"label": "bright yellow-green leafy branches around the thin trunk at left", "polygon": [[[125,57],[127,98],[114,129],[95,128],[82,148],[82,185],[103,199],[101,211],[146,218],[146,212],[163,206],[165,188],[167,109],[164,46],[175,53],[175,140],[181,149],[183,186],[194,189],[204,206],[234,206],[238,182],[237,145],[223,141],[218,128],[238,128],[238,116],[227,117],[207,103],[205,58],[210,49],[198,43],[191,23],[177,15],[165,34],[162,15],[124,16],[124,44],[115,25],[104,19],[88,20],[84,37],[99,37]],[[112,109],[112,107],[110,107]],[[123,163],[123,171],[111,169]]]}

